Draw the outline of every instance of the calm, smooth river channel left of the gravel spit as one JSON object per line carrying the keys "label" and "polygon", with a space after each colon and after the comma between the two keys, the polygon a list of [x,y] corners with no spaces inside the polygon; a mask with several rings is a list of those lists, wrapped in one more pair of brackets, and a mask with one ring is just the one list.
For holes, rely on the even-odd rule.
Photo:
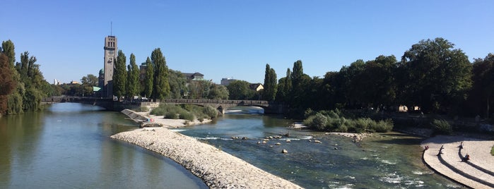
{"label": "calm, smooth river channel left of the gravel spit", "polygon": [[53,104],[0,118],[0,188],[207,188],[175,161],[112,140],[119,112]]}

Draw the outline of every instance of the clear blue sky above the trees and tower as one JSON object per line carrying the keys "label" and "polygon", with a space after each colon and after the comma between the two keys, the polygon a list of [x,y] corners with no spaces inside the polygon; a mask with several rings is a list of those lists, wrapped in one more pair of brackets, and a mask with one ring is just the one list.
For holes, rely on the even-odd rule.
{"label": "clear blue sky above the trees and tower", "polygon": [[[24,1],[0,0],[0,41],[29,51],[49,83],[98,75],[105,37],[140,63],[160,48],[170,69],[220,83],[278,79],[293,62],[323,77],[357,59],[401,59],[443,37],[469,59],[494,52],[494,1]],[[110,30],[112,23],[112,31]]]}

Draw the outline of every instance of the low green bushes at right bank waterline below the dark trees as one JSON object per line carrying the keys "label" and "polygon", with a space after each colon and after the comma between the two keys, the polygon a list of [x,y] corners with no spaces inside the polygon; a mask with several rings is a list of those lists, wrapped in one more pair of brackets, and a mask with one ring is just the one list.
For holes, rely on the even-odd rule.
{"label": "low green bushes at right bank waterline below the dark trees", "polygon": [[385,133],[393,128],[390,119],[374,121],[371,118],[349,118],[339,110],[331,111],[306,111],[307,118],[303,121],[305,126],[315,130],[327,130],[333,132],[379,132]]}

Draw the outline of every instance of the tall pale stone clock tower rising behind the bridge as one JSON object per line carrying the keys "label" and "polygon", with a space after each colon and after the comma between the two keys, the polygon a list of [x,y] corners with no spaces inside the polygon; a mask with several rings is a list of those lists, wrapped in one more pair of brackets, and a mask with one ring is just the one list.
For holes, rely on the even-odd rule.
{"label": "tall pale stone clock tower rising behind the bridge", "polygon": [[117,37],[109,35],[105,37],[105,66],[103,97],[113,97],[113,68],[115,59],[117,59]]}

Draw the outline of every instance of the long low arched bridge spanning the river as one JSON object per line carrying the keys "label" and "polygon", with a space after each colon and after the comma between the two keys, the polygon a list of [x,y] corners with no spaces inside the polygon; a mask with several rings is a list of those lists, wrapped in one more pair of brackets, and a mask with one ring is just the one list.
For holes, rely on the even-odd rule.
{"label": "long low arched bridge spanning the river", "polygon": [[123,109],[136,109],[141,106],[156,107],[160,103],[167,104],[195,104],[198,106],[212,106],[221,114],[225,113],[226,109],[235,106],[257,106],[264,109],[264,114],[284,114],[287,107],[284,104],[269,102],[264,100],[223,100],[223,99],[164,99],[158,102],[148,101],[114,101],[110,98],[96,97],[46,97],[42,99],[42,104],[54,104],[61,102],[75,102],[81,104],[91,104],[93,106],[101,106],[111,111],[122,111]]}

